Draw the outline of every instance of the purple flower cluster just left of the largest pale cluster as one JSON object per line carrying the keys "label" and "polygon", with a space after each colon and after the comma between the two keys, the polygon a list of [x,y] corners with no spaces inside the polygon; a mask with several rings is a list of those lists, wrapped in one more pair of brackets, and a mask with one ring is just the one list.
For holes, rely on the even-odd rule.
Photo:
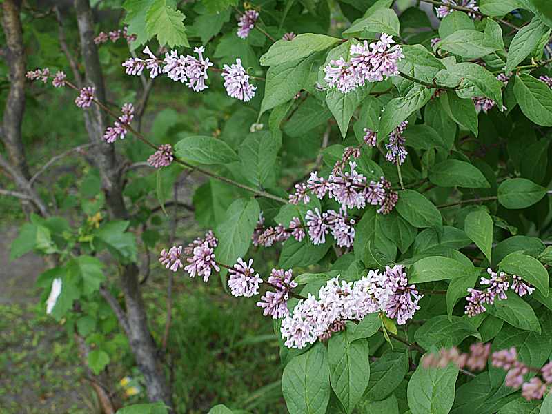
{"label": "purple flower cluster just left of the largest pale cluster", "polygon": [[259,308],[264,308],[263,315],[271,315],[273,319],[282,319],[289,315],[287,301],[289,292],[297,287],[297,282],[292,280],[292,270],[273,269],[268,277],[268,284],[276,288],[276,292],[267,291],[257,302]]}

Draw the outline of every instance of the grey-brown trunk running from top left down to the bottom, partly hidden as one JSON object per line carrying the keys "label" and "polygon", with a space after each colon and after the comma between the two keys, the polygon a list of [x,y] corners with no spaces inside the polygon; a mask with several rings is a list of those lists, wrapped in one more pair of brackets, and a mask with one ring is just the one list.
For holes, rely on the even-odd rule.
{"label": "grey-brown trunk running from top left down to the bottom, partly hidden", "polygon": [[[94,43],[94,23],[89,0],[75,0],[77,23],[81,40],[81,52],[86,71],[86,85],[96,88],[96,97],[105,102],[105,88],[98,59],[97,48]],[[106,190],[106,201],[112,216],[117,219],[126,219],[128,211],[123,199],[121,184],[120,163],[115,157],[112,144],[103,141],[103,131],[106,129],[106,115],[97,106],[88,110],[86,128],[90,141],[99,143],[97,153],[97,167],[100,170],[103,186]],[[161,366],[157,345],[148,328],[144,300],[142,299],[139,280],[139,270],[135,264],[124,266],[121,273],[121,285],[125,297],[126,334],[130,348],[135,355],[136,362],[146,380],[148,398],[151,401],[162,401],[172,407],[170,388]]]}

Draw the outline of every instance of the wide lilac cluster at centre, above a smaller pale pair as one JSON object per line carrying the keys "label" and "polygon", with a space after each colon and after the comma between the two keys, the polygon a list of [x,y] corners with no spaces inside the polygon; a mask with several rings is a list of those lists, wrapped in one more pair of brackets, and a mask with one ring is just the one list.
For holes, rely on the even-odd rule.
{"label": "wide lilac cluster at centre, above a smaller pale pair", "polygon": [[317,172],[311,172],[306,184],[295,184],[295,193],[289,195],[291,204],[311,201],[309,192],[322,199],[327,194],[346,208],[365,208],[367,204],[380,206],[377,213],[388,214],[393,210],[399,199],[398,193],[391,190],[391,183],[384,177],[380,181],[370,181],[355,170],[357,164],[349,162],[350,172],[335,171],[328,179],[318,177]]}

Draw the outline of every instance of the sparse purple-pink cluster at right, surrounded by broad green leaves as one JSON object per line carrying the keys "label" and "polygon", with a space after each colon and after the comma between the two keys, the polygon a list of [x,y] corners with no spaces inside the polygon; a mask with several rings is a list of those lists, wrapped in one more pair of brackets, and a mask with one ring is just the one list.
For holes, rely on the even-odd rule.
{"label": "sparse purple-pink cluster at right, surrounded by broad green leaves", "polygon": [[495,303],[495,299],[504,300],[507,299],[506,291],[508,289],[513,290],[517,295],[531,295],[535,288],[526,284],[521,277],[512,275],[511,280],[510,276],[506,275],[504,272],[495,273],[491,268],[487,269],[489,273],[489,279],[482,277],[480,279],[480,284],[484,286],[489,286],[484,290],[477,290],[473,288],[468,289],[470,294],[466,297],[466,315],[473,317],[479,315],[486,311],[485,304],[492,305]]}

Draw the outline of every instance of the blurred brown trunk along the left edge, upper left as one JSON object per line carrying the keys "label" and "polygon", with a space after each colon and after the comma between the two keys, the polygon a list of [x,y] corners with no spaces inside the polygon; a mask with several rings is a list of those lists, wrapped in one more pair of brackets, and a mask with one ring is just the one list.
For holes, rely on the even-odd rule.
{"label": "blurred brown trunk along the left edge, upper left", "polygon": [[6,36],[6,60],[10,67],[10,92],[3,113],[3,142],[8,151],[10,163],[23,177],[30,178],[21,142],[21,123],[25,111],[25,50],[23,49],[23,29],[19,10],[21,1],[1,2],[2,25]]}

